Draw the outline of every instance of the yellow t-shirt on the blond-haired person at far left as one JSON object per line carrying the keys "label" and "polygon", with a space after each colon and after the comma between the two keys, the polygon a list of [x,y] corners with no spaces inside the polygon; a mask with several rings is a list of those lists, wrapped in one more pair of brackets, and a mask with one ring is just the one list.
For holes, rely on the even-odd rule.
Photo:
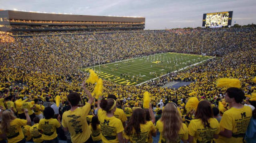
{"label": "yellow t-shirt on the blond-haired person at far left", "polygon": [[8,143],[16,143],[24,139],[21,126],[27,125],[27,120],[14,119],[10,122],[8,132],[6,134]]}

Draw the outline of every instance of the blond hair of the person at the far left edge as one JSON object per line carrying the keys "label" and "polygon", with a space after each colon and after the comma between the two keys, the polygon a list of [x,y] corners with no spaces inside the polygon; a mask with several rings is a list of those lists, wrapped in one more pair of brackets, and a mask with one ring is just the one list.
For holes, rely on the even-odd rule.
{"label": "blond hair of the person at the far left edge", "polygon": [[8,127],[10,126],[11,121],[14,119],[16,119],[16,116],[14,116],[10,110],[7,109],[2,113],[0,128],[4,133],[8,132]]}

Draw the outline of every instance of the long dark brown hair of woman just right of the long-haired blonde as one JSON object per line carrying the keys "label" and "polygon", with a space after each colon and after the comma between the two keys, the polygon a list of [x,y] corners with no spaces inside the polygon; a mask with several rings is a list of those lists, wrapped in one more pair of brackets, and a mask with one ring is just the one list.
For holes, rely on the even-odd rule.
{"label": "long dark brown hair of woman just right of the long-haired blonde", "polygon": [[213,117],[213,109],[211,103],[208,100],[202,100],[199,102],[197,106],[197,110],[195,112],[195,119],[201,119],[204,128],[209,127],[209,118]]}

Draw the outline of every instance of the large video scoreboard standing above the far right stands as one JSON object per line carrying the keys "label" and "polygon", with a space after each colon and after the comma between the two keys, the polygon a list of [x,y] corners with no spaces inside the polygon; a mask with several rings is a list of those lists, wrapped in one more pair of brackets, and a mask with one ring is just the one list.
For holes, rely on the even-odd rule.
{"label": "large video scoreboard standing above the far right stands", "polygon": [[203,28],[230,27],[233,11],[206,13],[203,15]]}

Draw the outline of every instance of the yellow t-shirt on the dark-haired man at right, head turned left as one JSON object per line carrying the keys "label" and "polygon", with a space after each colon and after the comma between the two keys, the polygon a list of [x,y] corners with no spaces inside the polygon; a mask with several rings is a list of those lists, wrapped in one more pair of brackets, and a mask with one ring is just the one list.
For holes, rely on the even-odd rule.
{"label": "yellow t-shirt on the dark-haired man at right, head turned left", "polygon": [[242,143],[245,136],[246,129],[249,125],[252,116],[252,109],[249,106],[243,108],[230,108],[224,112],[221,121],[220,129],[232,131],[232,137],[227,138],[219,135],[218,139],[214,139],[216,143]]}

